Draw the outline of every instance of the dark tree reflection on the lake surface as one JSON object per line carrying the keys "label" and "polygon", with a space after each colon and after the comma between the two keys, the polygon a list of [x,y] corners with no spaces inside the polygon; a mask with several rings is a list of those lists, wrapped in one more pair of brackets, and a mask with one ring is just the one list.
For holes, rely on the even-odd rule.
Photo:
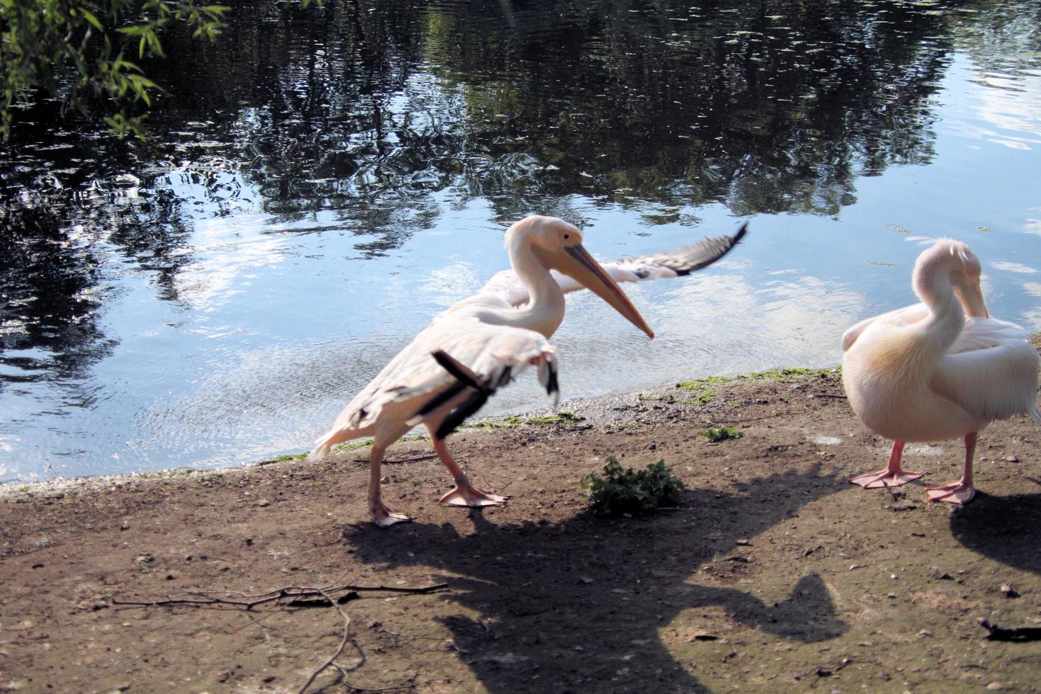
{"label": "dark tree reflection on the lake surface", "polygon": [[834,216],[858,177],[930,161],[956,41],[1037,50],[1038,3],[1013,4],[237,3],[218,44],[171,35],[145,66],[167,89],[147,144],[51,102],[19,113],[0,389],[109,354],[125,273],[185,301],[199,220],[262,212],[367,257],[473,200],[501,221],[581,223],[576,196],[649,224],[710,203]]}

